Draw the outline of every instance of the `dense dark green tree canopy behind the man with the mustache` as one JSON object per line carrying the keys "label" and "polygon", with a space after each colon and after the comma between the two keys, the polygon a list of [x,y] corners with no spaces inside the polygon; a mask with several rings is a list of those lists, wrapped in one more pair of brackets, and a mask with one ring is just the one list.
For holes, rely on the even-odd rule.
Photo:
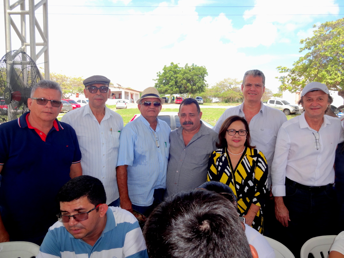
{"label": "dense dark green tree canopy behind the man with the mustache", "polygon": [[204,92],[207,84],[205,76],[208,75],[204,66],[188,64],[185,67],[179,67],[179,64],[173,62],[169,66],[164,66],[162,73],[157,73],[155,88],[160,94],[184,94],[189,95]]}

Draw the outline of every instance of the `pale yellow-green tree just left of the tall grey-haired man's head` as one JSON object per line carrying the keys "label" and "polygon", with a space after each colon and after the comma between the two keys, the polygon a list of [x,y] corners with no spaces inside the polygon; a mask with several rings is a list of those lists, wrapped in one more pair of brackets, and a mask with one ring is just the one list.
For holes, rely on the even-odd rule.
{"label": "pale yellow-green tree just left of the tall grey-haired man's head", "polygon": [[242,81],[238,81],[237,78],[225,78],[209,88],[208,94],[212,98],[218,98],[221,102],[225,103],[241,102],[243,101],[241,83]]}

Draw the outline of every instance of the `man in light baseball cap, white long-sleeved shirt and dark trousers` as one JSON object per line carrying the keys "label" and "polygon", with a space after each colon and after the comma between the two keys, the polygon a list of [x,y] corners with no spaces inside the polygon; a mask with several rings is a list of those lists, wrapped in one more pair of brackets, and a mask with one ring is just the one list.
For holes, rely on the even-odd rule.
{"label": "man in light baseball cap, white long-sleeved shirt and dark trousers", "polygon": [[344,140],[340,119],[324,115],[333,100],[326,85],[309,83],[300,96],[304,112],[279,129],[271,171],[275,214],[285,231],[280,241],[295,258],[308,239],[339,233],[333,164]]}

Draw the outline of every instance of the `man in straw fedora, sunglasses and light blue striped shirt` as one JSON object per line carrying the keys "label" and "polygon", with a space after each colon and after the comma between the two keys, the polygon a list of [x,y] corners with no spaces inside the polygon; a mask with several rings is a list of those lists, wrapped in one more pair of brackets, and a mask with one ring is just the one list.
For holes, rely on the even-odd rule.
{"label": "man in straw fedora, sunglasses and light blue striped shirt", "polygon": [[166,189],[171,128],[157,119],[162,108],[158,90],[144,89],[136,101],[141,116],[129,122],[120,137],[117,182],[121,208],[148,216]]}

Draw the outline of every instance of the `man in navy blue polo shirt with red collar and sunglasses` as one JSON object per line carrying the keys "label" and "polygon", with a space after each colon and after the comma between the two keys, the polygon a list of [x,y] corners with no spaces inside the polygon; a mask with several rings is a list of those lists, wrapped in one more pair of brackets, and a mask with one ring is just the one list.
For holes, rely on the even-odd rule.
{"label": "man in navy blue polo shirt with red collar and sunglasses", "polygon": [[31,90],[30,112],[0,125],[0,242],[40,245],[56,221],[58,190],[82,174],[74,129],[56,117],[61,87],[41,80]]}

